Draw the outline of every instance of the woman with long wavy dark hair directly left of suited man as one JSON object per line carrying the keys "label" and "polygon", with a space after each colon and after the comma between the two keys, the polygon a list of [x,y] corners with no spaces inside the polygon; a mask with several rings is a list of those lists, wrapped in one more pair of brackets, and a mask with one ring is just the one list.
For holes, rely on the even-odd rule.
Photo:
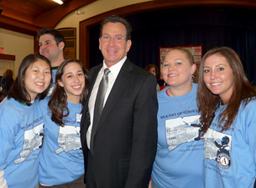
{"label": "woman with long wavy dark hair directly left of suited man", "polygon": [[44,115],[44,144],[40,155],[39,187],[85,186],[80,121],[88,84],[81,62],[67,59],[57,69],[50,99],[40,103]]}

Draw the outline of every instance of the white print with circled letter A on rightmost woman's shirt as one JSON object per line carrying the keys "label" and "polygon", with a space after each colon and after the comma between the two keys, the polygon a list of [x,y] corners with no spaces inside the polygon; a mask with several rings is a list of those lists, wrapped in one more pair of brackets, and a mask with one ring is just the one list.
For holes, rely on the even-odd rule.
{"label": "white print with circled letter A on rightmost woman's shirt", "polygon": [[209,129],[204,139],[204,159],[215,160],[222,169],[228,169],[231,165],[230,150],[232,136]]}

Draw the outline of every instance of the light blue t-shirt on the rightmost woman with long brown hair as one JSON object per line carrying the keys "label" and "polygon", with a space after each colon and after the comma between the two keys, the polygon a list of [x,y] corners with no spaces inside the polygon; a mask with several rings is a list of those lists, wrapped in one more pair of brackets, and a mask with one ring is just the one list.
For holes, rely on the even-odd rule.
{"label": "light blue t-shirt on the rightmost woman with long brown hair", "polygon": [[252,188],[256,176],[256,100],[250,101],[228,130],[222,130],[221,105],[207,130],[203,163],[206,188]]}

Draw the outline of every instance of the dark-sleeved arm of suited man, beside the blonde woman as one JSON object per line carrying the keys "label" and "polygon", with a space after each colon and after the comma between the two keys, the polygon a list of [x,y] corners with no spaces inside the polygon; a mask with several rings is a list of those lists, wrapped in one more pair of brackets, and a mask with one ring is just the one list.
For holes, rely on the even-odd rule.
{"label": "dark-sleeved arm of suited man, beside the blonde woman", "polygon": [[148,187],[157,149],[158,101],[156,80],[149,76],[142,84],[133,109],[133,148],[126,188]]}

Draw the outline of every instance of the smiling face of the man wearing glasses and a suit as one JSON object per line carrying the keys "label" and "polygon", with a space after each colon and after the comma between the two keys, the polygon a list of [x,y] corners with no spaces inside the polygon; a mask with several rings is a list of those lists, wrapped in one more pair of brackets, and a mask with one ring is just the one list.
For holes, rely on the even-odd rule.
{"label": "smiling face of the man wearing glasses and a suit", "polygon": [[[104,40],[103,38],[110,38]],[[122,38],[114,40],[113,38]],[[102,28],[102,38],[99,38],[99,48],[102,50],[102,55],[107,64],[111,67],[121,61],[128,53],[132,42],[126,40],[126,28],[123,23],[106,23]]]}

